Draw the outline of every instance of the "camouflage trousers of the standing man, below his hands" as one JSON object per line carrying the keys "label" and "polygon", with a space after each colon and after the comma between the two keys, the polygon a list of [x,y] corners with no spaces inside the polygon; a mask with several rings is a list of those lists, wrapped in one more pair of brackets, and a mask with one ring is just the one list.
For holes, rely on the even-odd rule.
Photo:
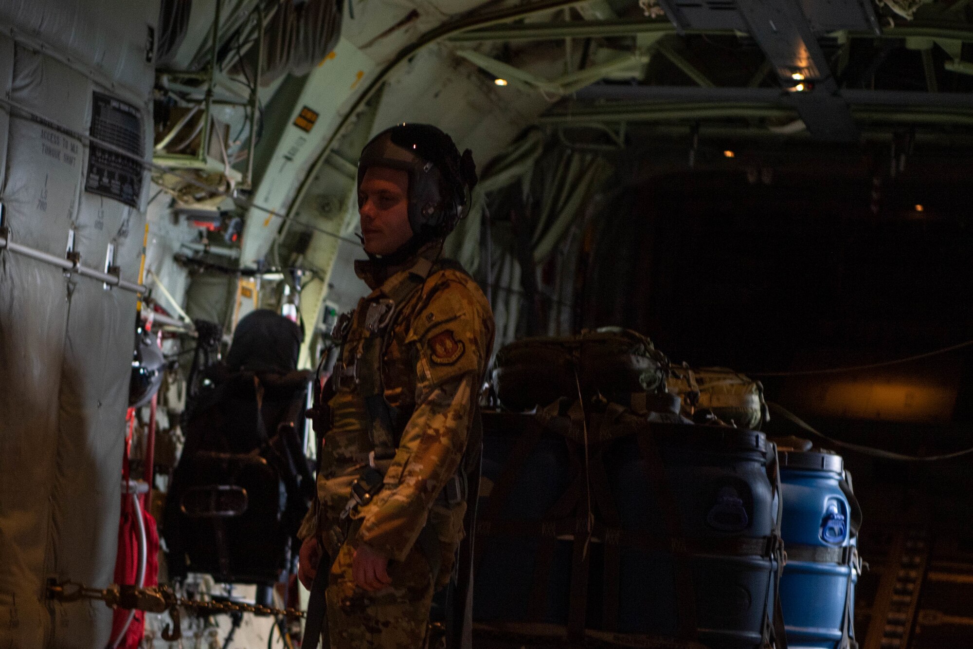
{"label": "camouflage trousers of the standing man, below his hands", "polygon": [[405,561],[389,561],[392,585],[378,592],[355,586],[354,550],[344,545],[328,584],[328,627],[334,649],[421,649],[426,646],[433,584],[429,564],[414,547]]}

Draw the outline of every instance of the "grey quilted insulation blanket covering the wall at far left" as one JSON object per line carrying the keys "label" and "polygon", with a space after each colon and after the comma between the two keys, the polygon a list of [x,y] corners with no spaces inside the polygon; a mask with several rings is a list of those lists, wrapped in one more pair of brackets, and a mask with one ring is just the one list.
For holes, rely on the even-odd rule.
{"label": "grey quilted insulation blanket covering the wall at far left", "polygon": [[[148,173],[138,172],[137,208],[86,191],[90,146],[78,135],[90,133],[95,94],[110,95],[137,115],[136,144],[151,150],[144,35],[158,4],[68,5],[0,8],[0,92],[15,106],[0,106],[4,224],[18,244],[62,257],[70,241],[83,265],[117,265],[134,282]],[[2,647],[109,641],[111,609],[50,601],[45,583],[113,581],[136,300],[0,250]]]}

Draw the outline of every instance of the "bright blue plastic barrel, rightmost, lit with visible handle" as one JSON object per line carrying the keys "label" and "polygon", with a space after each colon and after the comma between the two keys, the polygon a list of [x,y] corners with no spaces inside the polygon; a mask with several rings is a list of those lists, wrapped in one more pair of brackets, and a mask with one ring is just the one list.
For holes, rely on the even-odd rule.
{"label": "bright blue plastic barrel, rightmost, lit with visible handle", "polygon": [[847,649],[854,639],[858,565],[852,530],[857,506],[844,461],[823,450],[781,451],[779,460],[787,552],[780,606],[787,645]]}

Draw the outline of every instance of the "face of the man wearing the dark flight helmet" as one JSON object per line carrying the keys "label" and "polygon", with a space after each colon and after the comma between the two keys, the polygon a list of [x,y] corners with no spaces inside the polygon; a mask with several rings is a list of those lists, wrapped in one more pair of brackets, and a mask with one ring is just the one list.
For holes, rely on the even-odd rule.
{"label": "face of the man wearing the dark flight helmet", "polygon": [[409,224],[409,174],[399,169],[370,167],[358,187],[365,251],[391,254],[413,238]]}

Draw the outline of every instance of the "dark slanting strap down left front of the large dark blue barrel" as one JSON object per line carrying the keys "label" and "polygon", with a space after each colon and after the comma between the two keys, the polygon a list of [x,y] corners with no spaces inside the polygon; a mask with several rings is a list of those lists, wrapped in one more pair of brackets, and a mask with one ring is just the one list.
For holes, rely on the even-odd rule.
{"label": "dark slanting strap down left front of the large dark blue barrel", "polygon": [[689,553],[686,540],[682,533],[682,524],[675,500],[669,492],[666,480],[666,468],[662,455],[656,445],[651,429],[635,436],[642,461],[645,463],[649,481],[655,487],[656,498],[663,512],[666,530],[672,543],[672,563],[675,572],[675,598],[678,605],[678,625],[676,634],[683,639],[695,640],[698,637],[696,627],[696,592],[693,589],[693,571],[689,565]]}

